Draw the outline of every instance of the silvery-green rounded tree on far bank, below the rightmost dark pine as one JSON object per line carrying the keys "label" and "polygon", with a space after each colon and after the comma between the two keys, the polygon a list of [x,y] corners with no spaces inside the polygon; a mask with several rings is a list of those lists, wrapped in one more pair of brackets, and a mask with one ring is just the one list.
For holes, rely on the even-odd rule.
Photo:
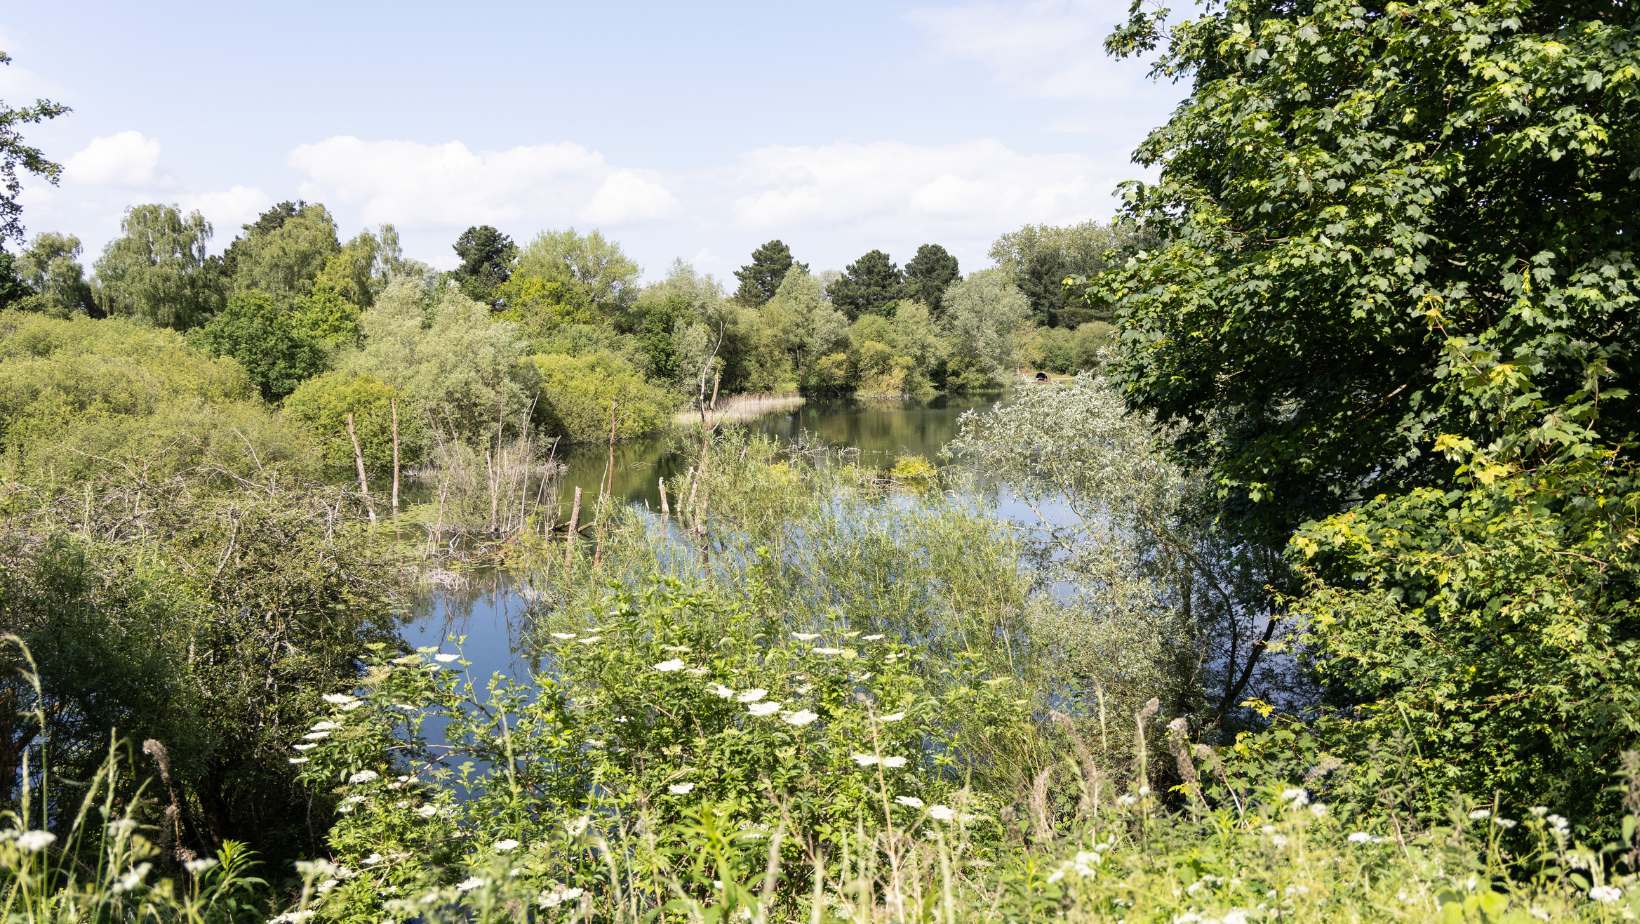
{"label": "silvery-green rounded tree on far bank, below the rightmost dark pine", "polygon": [[1018,335],[1030,323],[1030,302],[1000,269],[982,269],[945,290],[946,341],[951,345],[950,386],[989,391],[1007,384],[1018,353]]}

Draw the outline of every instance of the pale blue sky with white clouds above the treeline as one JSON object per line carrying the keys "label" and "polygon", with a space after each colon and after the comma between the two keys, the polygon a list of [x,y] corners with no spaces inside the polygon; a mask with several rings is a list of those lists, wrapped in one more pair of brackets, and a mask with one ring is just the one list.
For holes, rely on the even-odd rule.
{"label": "pale blue sky with white clouds above the treeline", "polygon": [[940,243],[963,271],[1025,223],[1109,218],[1182,90],[1102,51],[1128,0],[11,0],[0,98],[74,108],[25,138],[30,233],[90,266],[136,202],[221,249],[284,199],[384,222],[438,268],[489,223],[599,228],[664,276],[730,279],[781,238],[815,271]]}

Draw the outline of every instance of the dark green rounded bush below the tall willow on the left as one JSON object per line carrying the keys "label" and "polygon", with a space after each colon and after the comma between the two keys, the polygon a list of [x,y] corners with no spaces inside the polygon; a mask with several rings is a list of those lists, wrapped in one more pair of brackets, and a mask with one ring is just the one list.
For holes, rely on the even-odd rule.
{"label": "dark green rounded bush below the tall willow on the left", "polygon": [[235,358],[267,400],[285,397],[326,361],[323,341],[261,289],[228,295],[228,307],[195,340],[216,356]]}

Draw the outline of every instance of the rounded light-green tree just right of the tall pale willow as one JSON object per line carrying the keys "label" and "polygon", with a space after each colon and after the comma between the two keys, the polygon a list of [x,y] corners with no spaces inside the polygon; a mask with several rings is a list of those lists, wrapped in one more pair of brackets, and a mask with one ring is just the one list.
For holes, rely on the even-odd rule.
{"label": "rounded light-green tree just right of the tall pale willow", "polygon": [[[276,299],[307,295],[326,263],[341,251],[336,220],[318,202],[298,204],[295,212],[282,202],[264,218],[246,225],[244,236],[230,248],[233,258],[225,264],[231,269],[233,289],[261,289]],[[374,256],[374,251],[364,256],[366,269]],[[346,277],[344,268],[339,276]]]}

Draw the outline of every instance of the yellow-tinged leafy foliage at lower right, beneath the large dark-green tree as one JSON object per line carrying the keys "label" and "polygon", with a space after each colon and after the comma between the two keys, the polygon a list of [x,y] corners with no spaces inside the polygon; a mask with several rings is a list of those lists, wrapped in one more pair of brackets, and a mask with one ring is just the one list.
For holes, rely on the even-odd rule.
{"label": "yellow-tinged leafy foliage at lower right, beneath the large dark-green tree", "polygon": [[1497,794],[1615,832],[1602,778],[1640,742],[1640,481],[1614,453],[1524,466],[1461,437],[1437,450],[1451,489],[1381,496],[1294,538],[1319,578],[1294,604],[1307,652],[1353,719],[1340,745],[1394,742],[1425,807]]}

